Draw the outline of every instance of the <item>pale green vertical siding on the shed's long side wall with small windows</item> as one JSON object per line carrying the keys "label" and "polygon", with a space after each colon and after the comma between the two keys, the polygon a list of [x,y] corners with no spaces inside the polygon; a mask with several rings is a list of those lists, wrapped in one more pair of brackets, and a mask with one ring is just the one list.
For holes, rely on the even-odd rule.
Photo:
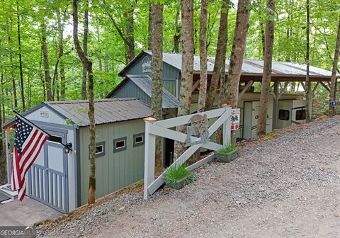
{"label": "pale green vertical siding on the shed's long side wall with small windows", "polygon": [[[89,188],[89,127],[80,128],[81,205]],[[96,143],[105,142],[105,154],[96,158],[96,198],[143,179],[144,145],[133,147],[133,135],[145,132],[142,119],[96,125]],[[113,153],[113,140],[127,137],[127,149]]]}

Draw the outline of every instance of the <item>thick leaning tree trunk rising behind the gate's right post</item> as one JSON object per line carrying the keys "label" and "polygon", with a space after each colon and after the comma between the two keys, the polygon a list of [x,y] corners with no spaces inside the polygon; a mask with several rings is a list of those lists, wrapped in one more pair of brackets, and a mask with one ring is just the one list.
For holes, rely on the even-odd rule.
{"label": "thick leaning tree trunk rising behind the gate's right post", "polygon": [[[227,75],[227,104],[232,108],[237,108],[239,97],[239,78],[242,73],[244,49],[246,47],[246,33],[249,28],[250,0],[239,1],[237,4],[237,16],[235,23],[234,40],[232,42],[232,52],[230,55],[229,71]],[[236,142],[235,134],[232,134],[232,142]]]}

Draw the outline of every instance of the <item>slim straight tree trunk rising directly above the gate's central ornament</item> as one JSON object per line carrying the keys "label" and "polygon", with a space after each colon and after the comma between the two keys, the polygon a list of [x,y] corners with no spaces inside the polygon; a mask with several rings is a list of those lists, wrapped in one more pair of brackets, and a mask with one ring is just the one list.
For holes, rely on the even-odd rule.
{"label": "slim straight tree trunk rising directly above the gate's central ornament", "polygon": [[208,0],[200,2],[200,92],[198,95],[198,111],[204,111],[207,96],[207,18]]}

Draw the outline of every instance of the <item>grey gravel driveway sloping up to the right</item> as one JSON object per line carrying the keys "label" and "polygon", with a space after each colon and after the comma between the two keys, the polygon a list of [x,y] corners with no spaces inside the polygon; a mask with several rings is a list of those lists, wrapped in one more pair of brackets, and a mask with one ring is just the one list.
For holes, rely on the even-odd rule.
{"label": "grey gravel driveway sloping up to the right", "polygon": [[45,237],[340,237],[340,117],[212,162],[181,191],[128,193]]}

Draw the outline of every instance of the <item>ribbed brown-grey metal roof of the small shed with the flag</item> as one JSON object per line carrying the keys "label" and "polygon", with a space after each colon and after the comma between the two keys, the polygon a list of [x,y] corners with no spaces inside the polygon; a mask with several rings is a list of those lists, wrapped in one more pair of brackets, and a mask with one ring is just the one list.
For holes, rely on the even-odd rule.
{"label": "ribbed brown-grey metal roof of the small shed with the flag", "polygon": [[[69,118],[76,125],[87,126],[90,124],[89,101],[50,101],[48,106]],[[94,101],[94,117],[96,125],[115,123],[123,120],[146,118],[151,115],[150,106],[145,101],[136,98],[110,98]]]}

